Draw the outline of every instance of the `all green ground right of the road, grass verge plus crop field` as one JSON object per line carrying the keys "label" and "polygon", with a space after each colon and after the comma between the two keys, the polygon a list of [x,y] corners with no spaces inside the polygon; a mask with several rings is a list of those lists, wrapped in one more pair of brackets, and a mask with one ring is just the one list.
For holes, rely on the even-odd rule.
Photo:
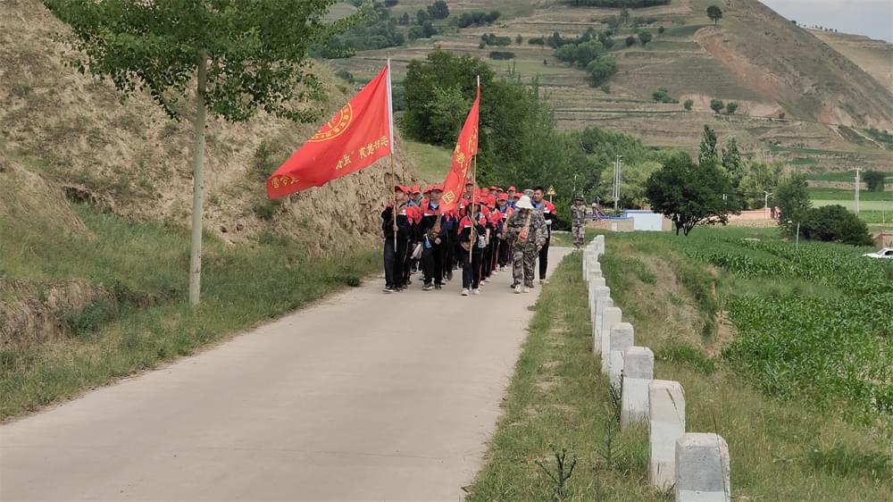
{"label": "all green ground right of the road, grass verge plus crop field", "polygon": [[[682,383],[687,430],[728,441],[733,499],[888,500],[893,264],[777,235],[612,233],[602,270],[655,377]],[[574,254],[538,300],[469,500],[672,500],[647,486],[647,428],[620,431],[591,337]],[[577,462],[560,494],[555,448]]]}

